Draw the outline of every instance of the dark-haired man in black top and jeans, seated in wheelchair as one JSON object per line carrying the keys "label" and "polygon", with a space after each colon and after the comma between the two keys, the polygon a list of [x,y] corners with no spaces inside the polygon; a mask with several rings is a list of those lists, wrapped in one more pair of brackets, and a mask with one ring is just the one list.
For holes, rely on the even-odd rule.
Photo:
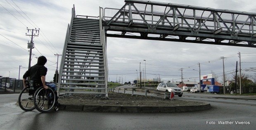
{"label": "dark-haired man in black top and jeans, seated in wheelchair", "polygon": [[39,87],[43,86],[44,89],[48,89],[51,87],[55,94],[55,104],[59,105],[58,97],[57,97],[57,87],[54,83],[46,83],[45,75],[47,74],[47,68],[44,66],[47,62],[46,57],[40,56],[38,57],[37,64],[28,68],[28,71],[23,75],[23,84],[25,87],[28,87],[28,82],[26,78],[30,77],[30,86],[34,87],[34,89],[29,90],[29,95],[33,95]]}

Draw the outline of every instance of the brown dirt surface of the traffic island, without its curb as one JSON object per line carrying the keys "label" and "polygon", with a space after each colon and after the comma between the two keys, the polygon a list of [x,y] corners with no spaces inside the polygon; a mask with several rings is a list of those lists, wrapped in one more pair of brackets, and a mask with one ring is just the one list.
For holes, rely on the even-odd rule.
{"label": "brown dirt surface of the traffic island, without its curb", "polygon": [[[175,98],[179,98],[176,97]],[[151,96],[140,96],[109,92],[108,98],[97,97],[92,94],[74,94],[59,98],[59,103],[69,105],[117,105],[117,106],[185,106],[204,105],[205,103],[187,100],[170,100]]]}

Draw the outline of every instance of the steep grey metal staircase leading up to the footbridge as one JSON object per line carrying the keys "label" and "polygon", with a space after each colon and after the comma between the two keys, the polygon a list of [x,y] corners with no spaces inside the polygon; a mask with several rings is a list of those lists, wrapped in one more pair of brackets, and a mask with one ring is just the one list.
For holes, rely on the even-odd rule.
{"label": "steep grey metal staircase leading up to the footbridge", "polygon": [[73,7],[70,25],[59,71],[59,94],[107,96],[107,55],[101,15],[76,16]]}

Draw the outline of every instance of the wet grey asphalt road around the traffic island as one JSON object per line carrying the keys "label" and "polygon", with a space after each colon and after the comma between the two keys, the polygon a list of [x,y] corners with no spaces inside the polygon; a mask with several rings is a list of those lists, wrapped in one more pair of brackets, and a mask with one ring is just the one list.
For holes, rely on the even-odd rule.
{"label": "wet grey asphalt road around the traffic island", "polygon": [[[42,114],[36,110],[24,112],[16,106],[18,94],[2,94],[0,95],[0,130],[254,130],[256,128],[255,100],[241,100],[244,104],[235,104],[233,101],[237,100],[214,98],[218,96],[185,93],[184,97],[181,97],[192,100],[202,100],[202,97],[204,100],[209,99],[212,109],[201,112],[133,114],[58,111]],[[225,103],[219,102],[220,100],[225,100]],[[219,121],[229,124],[220,124]]]}

